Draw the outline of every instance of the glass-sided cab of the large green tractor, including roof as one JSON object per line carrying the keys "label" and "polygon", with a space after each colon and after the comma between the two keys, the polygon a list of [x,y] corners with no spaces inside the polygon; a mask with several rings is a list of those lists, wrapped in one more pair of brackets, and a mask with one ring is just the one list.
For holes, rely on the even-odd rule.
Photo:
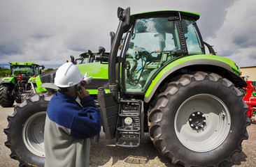
{"label": "glass-sided cab of the large green tractor, including roof", "polygon": [[[161,17],[152,14],[133,15],[139,17],[127,33],[127,51],[121,55],[125,58],[122,76],[127,93],[145,92],[155,74],[171,61],[205,52],[195,23],[198,14],[177,11],[161,12]],[[184,14],[181,20],[180,15]]]}

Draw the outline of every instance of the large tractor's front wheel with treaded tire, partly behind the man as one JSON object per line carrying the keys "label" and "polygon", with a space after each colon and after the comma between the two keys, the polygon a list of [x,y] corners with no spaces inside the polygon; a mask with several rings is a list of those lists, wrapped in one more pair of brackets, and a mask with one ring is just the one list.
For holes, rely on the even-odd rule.
{"label": "large tractor's front wheel with treaded tire, partly behind the man", "polygon": [[36,93],[22,104],[15,106],[8,116],[6,147],[10,157],[20,161],[19,166],[44,166],[44,125],[48,103],[52,95]]}

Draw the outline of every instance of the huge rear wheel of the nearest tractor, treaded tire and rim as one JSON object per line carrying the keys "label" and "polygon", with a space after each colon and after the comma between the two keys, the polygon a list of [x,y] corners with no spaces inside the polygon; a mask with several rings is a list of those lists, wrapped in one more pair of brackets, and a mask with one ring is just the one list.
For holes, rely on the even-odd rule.
{"label": "huge rear wheel of the nearest tractor, treaded tire and rim", "polygon": [[155,148],[173,164],[218,166],[248,138],[248,106],[231,81],[210,72],[172,80],[149,113]]}

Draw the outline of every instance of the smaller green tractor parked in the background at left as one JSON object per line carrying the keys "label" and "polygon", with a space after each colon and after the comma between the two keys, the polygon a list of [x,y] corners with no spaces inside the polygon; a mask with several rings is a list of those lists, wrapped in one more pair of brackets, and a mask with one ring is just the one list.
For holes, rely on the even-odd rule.
{"label": "smaller green tractor parked in the background at left", "polygon": [[11,75],[0,82],[0,105],[13,106],[14,101],[21,103],[25,97],[34,94],[36,77],[43,68],[36,63],[10,62]]}

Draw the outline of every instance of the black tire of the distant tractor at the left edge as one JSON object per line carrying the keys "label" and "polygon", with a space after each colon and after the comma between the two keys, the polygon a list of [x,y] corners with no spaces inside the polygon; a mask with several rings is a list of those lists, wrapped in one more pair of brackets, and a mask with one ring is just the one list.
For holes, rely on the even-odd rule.
{"label": "black tire of the distant tractor at the left edge", "polygon": [[13,106],[14,98],[10,96],[11,85],[0,84],[0,105],[3,107]]}

